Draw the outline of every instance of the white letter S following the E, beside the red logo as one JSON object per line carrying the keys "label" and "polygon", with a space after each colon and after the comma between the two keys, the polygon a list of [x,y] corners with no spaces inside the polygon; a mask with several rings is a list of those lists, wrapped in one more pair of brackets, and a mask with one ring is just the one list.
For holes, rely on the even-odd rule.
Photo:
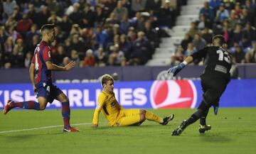
{"label": "white letter S following the E, beside the red logo", "polygon": [[137,88],[134,89],[133,96],[134,96],[134,104],[138,106],[143,106],[146,104],[146,89],[144,88]]}

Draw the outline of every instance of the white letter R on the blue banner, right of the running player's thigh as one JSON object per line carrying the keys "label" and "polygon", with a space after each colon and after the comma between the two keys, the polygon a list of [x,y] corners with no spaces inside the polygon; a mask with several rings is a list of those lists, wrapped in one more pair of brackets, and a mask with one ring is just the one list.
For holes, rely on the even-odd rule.
{"label": "white letter R on the blue banner, right of the running player's thigh", "polygon": [[70,106],[82,106],[82,92],[79,89],[68,90],[68,97],[70,99]]}

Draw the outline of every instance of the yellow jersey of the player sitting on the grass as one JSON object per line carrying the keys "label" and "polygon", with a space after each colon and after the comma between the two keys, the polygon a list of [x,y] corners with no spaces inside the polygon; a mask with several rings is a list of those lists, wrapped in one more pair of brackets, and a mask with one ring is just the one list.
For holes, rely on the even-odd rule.
{"label": "yellow jersey of the player sitting on the grass", "polygon": [[117,99],[115,99],[114,92],[107,93],[102,91],[98,97],[92,123],[99,123],[99,114],[100,111],[102,111],[102,114],[105,116],[108,123],[113,126],[117,121],[117,116],[119,115],[119,111],[121,109],[123,108],[118,104]]}

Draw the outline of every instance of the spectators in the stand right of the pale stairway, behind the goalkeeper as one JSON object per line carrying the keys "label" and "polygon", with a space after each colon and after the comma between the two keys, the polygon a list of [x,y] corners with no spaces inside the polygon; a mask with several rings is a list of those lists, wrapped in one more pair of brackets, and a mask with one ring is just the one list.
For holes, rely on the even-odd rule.
{"label": "spectators in the stand right of the pale stairway, behind the goalkeeper", "polygon": [[[233,55],[233,65],[256,62],[256,4],[253,0],[209,0],[199,11],[198,21],[177,45],[171,65],[210,45],[213,35],[222,34]],[[201,65],[201,62],[194,62]]]}

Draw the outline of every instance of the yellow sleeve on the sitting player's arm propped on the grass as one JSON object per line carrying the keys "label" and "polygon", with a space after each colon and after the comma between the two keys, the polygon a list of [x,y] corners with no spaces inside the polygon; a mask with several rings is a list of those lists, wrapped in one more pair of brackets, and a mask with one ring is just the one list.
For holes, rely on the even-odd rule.
{"label": "yellow sleeve on the sitting player's arm propped on the grass", "polygon": [[102,107],[105,104],[105,100],[106,100],[105,94],[100,93],[100,95],[98,97],[95,113],[93,114],[93,119],[92,119],[93,124],[99,123],[99,114],[100,114],[100,111],[102,110]]}

